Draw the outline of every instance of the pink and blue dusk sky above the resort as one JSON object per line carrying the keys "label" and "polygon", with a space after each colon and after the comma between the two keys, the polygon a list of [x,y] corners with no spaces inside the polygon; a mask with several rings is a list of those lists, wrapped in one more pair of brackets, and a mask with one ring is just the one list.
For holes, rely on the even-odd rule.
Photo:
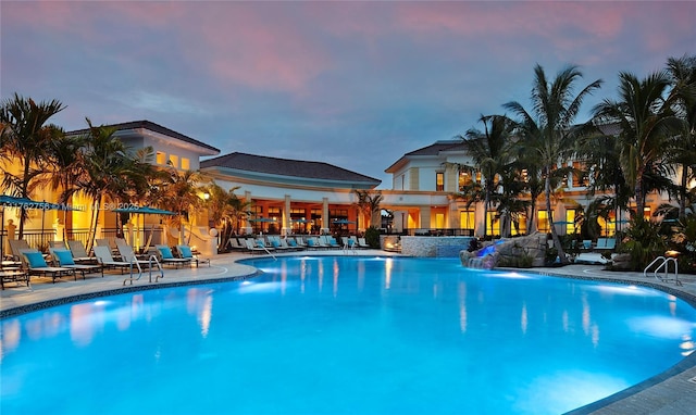
{"label": "pink and blue dusk sky above the resort", "polygon": [[533,67],[601,78],[577,121],[696,53],[696,2],[0,2],[0,93],[65,130],[149,120],[229,152],[383,180],[402,154],[529,108]]}

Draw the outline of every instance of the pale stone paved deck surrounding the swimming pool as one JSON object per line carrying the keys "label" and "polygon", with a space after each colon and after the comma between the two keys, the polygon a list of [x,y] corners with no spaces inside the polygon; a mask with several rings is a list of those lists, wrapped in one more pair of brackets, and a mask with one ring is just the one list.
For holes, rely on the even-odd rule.
{"label": "pale stone paved deck surrounding the swimming pool", "polygon": [[[288,253],[293,254],[293,253]],[[297,254],[297,253],[295,253]],[[398,255],[378,250],[360,251],[311,251],[309,255]],[[284,255],[284,254],[283,254]],[[228,253],[216,255],[208,264],[196,267],[171,268],[165,267],[164,278],[158,282],[149,282],[149,274],[144,273],[140,280],[133,285],[123,281],[127,274],[121,275],[119,272],[104,273],[101,278],[97,275],[87,276],[86,279],[78,277],[77,281],[72,278],[61,278],[55,284],[50,278],[32,278],[32,286],[15,285],[9,282],[5,289],[0,291],[0,317],[22,313],[27,310],[41,309],[53,304],[64,303],[98,297],[102,293],[119,293],[134,290],[146,290],[172,285],[192,285],[206,281],[229,280],[249,278],[257,274],[256,268],[238,264],[236,261],[250,256],[243,253]],[[279,255],[278,255],[279,256]],[[617,273],[602,271],[599,256],[580,256],[582,264],[573,264],[558,268],[532,268],[525,269],[544,275],[561,277],[573,277],[583,279],[599,279],[619,281],[624,284],[645,285],[674,293],[696,307],[696,276],[680,275],[683,286],[678,287],[673,282],[661,282],[643,273]],[[156,273],[152,274],[154,278]],[[696,341],[696,339],[692,339]],[[649,356],[646,356],[649,359]],[[682,363],[672,369],[646,380],[633,388],[626,389],[616,395],[594,404],[581,407],[571,414],[694,414],[696,413],[696,353],[692,353]]]}

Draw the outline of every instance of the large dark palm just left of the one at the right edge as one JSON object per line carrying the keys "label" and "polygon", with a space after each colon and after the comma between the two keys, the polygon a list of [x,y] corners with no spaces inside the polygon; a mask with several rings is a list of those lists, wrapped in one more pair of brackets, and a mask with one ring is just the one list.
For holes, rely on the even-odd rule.
{"label": "large dark palm just left of the one at the right edge", "polygon": [[670,137],[682,121],[674,116],[670,100],[667,72],[655,72],[638,79],[626,72],[619,74],[619,99],[605,99],[593,112],[602,124],[619,125],[619,162],[627,185],[633,189],[636,214],[643,214],[645,180],[655,166],[664,161]]}

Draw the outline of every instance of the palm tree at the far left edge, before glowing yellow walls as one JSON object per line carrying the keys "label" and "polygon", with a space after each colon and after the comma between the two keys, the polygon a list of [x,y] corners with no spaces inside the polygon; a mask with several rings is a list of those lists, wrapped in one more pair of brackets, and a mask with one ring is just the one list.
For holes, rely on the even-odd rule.
{"label": "palm tree at the far left edge, before glowing yellow walls", "polygon": [[[0,124],[2,124],[2,149],[8,155],[18,160],[22,172],[17,175],[5,172],[2,188],[16,196],[28,198],[37,178],[45,174],[48,148],[52,139],[62,135],[54,125],[47,125],[49,118],[64,109],[60,101],[41,101],[38,104],[30,98],[16,92],[2,102]],[[4,152],[4,151],[3,151]],[[18,238],[24,236],[24,209],[20,214]]]}

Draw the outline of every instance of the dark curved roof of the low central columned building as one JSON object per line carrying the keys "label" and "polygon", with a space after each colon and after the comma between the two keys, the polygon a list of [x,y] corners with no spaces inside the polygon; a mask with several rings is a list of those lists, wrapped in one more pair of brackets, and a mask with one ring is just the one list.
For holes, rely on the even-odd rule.
{"label": "dark curved roof of the low central columned building", "polygon": [[203,160],[200,167],[226,167],[238,171],[265,173],[300,178],[339,180],[347,183],[371,183],[377,186],[382,180],[361,175],[332,164],[303,160],[276,159],[234,152],[214,159]]}

